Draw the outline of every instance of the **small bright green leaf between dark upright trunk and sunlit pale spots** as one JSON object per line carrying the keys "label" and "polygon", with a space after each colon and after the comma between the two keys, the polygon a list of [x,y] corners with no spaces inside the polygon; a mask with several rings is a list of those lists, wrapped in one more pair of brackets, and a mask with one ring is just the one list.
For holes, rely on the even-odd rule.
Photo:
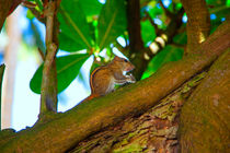
{"label": "small bright green leaf between dark upright trunk and sunlit pale spots", "polygon": [[154,40],[157,36],[154,32],[154,27],[152,26],[149,20],[145,22],[140,22],[140,25],[141,25],[141,38],[143,40],[145,46],[147,47],[147,44],[149,42]]}

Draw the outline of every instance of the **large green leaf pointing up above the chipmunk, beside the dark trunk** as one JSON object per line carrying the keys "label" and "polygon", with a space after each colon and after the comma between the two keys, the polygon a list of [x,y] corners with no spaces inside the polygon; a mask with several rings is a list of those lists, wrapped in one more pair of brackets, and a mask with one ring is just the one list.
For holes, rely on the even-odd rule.
{"label": "large green leaf pointing up above the chipmunk, beside the dark trunk", "polygon": [[127,27],[125,0],[106,0],[99,17],[97,45],[102,50],[113,43]]}

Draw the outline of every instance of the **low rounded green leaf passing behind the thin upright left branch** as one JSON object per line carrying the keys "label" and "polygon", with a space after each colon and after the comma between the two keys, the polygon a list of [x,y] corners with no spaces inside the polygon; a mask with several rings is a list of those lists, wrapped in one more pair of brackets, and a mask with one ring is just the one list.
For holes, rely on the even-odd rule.
{"label": "low rounded green leaf passing behind the thin upright left branch", "polygon": [[[77,54],[57,58],[58,93],[64,91],[79,74],[80,68],[89,57],[90,55],[87,54]],[[42,71],[43,64],[37,69],[30,83],[31,90],[37,94],[41,93]]]}

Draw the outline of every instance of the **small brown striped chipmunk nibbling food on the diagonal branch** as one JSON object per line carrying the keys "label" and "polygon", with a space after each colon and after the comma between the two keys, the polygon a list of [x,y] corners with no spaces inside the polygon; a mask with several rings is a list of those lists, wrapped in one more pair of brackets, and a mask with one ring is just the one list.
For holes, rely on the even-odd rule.
{"label": "small brown striped chipmunk nibbling food on the diagonal branch", "polygon": [[113,92],[115,84],[135,83],[136,79],[126,74],[134,69],[135,66],[130,61],[117,56],[106,66],[96,68],[90,75],[91,95],[83,102]]}

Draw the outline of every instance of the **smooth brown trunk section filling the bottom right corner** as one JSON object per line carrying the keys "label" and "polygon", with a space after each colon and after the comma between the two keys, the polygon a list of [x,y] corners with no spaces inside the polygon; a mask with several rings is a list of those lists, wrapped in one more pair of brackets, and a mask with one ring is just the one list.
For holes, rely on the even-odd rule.
{"label": "smooth brown trunk section filling the bottom right corner", "polygon": [[182,108],[180,143],[183,153],[230,152],[230,48]]}

